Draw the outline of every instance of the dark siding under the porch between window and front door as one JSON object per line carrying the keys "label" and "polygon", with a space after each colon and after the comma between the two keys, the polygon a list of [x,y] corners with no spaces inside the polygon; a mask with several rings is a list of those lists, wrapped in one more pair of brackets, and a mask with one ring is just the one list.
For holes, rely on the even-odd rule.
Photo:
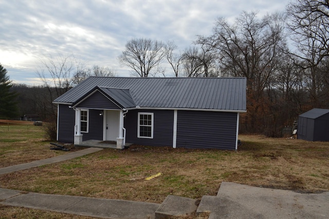
{"label": "dark siding under the porch between window and front door", "polygon": [[99,115],[97,109],[89,109],[89,129],[83,134],[82,140],[103,140],[103,116]]}

